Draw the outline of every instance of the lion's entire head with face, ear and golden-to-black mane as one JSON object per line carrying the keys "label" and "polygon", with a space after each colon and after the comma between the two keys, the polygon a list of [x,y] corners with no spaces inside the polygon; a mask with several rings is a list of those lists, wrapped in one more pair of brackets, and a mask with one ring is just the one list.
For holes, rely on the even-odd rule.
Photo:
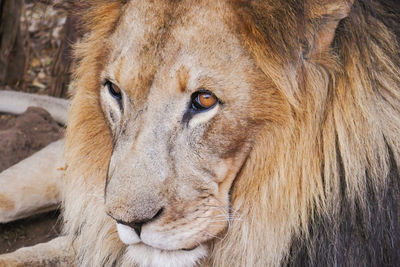
{"label": "lion's entire head with face, ear and golden-to-black mane", "polygon": [[400,264],[395,0],[84,13],[63,185],[73,264]]}

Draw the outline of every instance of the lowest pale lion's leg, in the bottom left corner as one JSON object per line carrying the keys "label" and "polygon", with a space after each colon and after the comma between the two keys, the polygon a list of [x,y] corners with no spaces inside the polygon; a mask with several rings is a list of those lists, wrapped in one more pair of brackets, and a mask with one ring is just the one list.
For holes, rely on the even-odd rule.
{"label": "lowest pale lion's leg, in the bottom left corner", "polygon": [[61,236],[47,243],[0,255],[0,267],[5,266],[74,266],[70,239]]}

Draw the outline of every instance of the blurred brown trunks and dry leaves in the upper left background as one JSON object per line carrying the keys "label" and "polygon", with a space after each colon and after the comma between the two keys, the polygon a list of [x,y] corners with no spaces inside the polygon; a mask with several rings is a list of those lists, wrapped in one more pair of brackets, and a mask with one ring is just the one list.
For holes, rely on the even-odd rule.
{"label": "blurred brown trunks and dry leaves in the upper left background", "polygon": [[71,5],[0,0],[0,89],[67,96],[71,45],[79,36]]}

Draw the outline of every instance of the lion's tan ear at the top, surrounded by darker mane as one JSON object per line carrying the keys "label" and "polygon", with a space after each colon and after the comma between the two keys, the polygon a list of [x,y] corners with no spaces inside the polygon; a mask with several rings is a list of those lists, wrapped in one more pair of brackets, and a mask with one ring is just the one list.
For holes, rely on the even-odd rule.
{"label": "lion's tan ear at the top, surrounded by darker mane", "polygon": [[339,22],[346,18],[354,0],[316,0],[308,6],[308,18],[312,24],[311,56],[326,51],[335,37]]}

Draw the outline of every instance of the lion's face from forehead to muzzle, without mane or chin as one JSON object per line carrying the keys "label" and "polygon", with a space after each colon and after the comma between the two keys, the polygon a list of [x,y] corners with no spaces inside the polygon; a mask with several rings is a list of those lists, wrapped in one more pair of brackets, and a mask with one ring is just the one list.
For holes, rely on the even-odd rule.
{"label": "lion's face from forehead to muzzle, without mane or chin", "polygon": [[128,4],[109,38],[105,204],[126,244],[191,250],[234,216],[229,193],[260,128],[252,92],[265,78],[215,5],[176,6],[184,15],[175,19]]}

